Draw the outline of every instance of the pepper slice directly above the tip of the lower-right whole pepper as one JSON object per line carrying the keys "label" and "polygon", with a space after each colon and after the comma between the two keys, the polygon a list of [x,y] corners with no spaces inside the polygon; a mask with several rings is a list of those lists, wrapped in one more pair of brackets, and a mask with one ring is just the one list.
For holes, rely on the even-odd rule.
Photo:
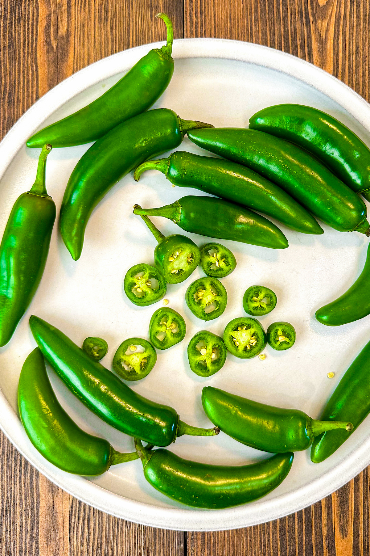
{"label": "pepper slice directly above the tip of the lower-right whole pepper", "polygon": [[208,330],[197,332],[187,346],[190,369],[199,376],[217,373],[225,364],[226,353],[224,340]]}

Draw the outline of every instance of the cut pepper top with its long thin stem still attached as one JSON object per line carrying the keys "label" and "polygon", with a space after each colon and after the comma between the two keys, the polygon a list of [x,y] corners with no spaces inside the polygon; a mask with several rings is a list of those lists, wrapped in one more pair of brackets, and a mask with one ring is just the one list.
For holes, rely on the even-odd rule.
{"label": "cut pepper top with its long thin stem still attached", "polygon": [[[134,205],[141,209],[140,205]],[[184,282],[199,265],[200,251],[189,237],[173,234],[165,237],[149,220],[148,216],[141,215],[158,245],[154,249],[154,264],[164,275],[169,284]]]}

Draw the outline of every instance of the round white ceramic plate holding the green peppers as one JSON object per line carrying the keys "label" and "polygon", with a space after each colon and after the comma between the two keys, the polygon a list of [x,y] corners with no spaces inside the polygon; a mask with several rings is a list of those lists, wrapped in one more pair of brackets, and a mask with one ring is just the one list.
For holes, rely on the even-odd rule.
{"label": "round white ceramic plate holding the green peppers", "polygon": [[[60,83],[14,125],[0,145],[0,233],[18,195],[34,180],[39,150],[27,149],[27,137],[48,123],[78,110],[97,98],[150,48],[146,45],[105,58]],[[247,126],[260,108],[295,102],[320,108],[338,117],[370,145],[370,107],[334,77],[301,59],[256,44],[217,39],[175,41],[173,80],[155,107],[173,108],[182,118],[215,126]],[[47,163],[47,188],[59,209],[65,185],[89,145],[55,149]],[[205,153],[185,138],[179,147]],[[164,155],[165,156],[165,155]],[[310,451],[296,453],[286,480],[270,495],[252,504],[226,510],[194,510],[175,503],[146,483],[140,461],[111,467],[97,478],[64,473],[33,448],[16,412],[19,373],[36,343],[28,327],[31,314],[62,329],[77,344],[86,336],[102,336],[109,353],[102,361],[110,368],[116,348],[126,337],[148,336],[151,314],[158,304],[142,309],[123,295],[126,270],[153,261],[155,240],[144,222],[132,214],[135,202],[161,206],[199,191],[171,188],[159,172],[147,172],[136,183],[126,176],[94,211],[85,234],[82,257],[75,262],[65,249],[55,225],[42,282],[13,339],[0,350],[0,426],[18,450],[54,483],[79,499],[124,519],[155,527],[211,530],[245,527],[276,519],[320,500],[353,478],[370,461],[370,420],[366,419],[331,458],[315,465]],[[217,217],[217,215],[215,215]],[[164,234],[181,230],[172,222],[154,219]],[[267,346],[265,361],[243,361],[230,354],[224,368],[210,379],[193,374],[186,346],[205,323],[187,309],[184,294],[190,280],[169,286],[170,307],[184,315],[187,332],[178,346],[158,354],[155,368],[130,384],[135,391],[173,405],[181,419],[209,426],[202,411],[202,386],[214,385],[246,397],[300,408],[317,418],[348,365],[369,340],[370,317],[339,328],[325,327],[315,310],[334,299],[361,271],[368,240],[353,232],[341,234],[323,226],[325,234],[298,234],[278,224],[290,247],[282,251],[224,242],[235,253],[236,270],[223,283],[229,302],[224,314],[207,327],[222,335],[231,319],[243,314],[242,295],[252,284],[271,287],[278,304],[261,319],[262,325],[287,320],[296,327],[295,346],[278,353]],[[191,236],[197,244],[208,241]],[[202,275],[197,269],[192,279]],[[328,371],[334,371],[332,380]],[[133,440],[119,433],[85,408],[49,369],[59,400],[85,430],[107,438],[116,449],[131,451]],[[209,463],[244,464],[267,454],[249,449],[224,434],[215,438],[183,436],[172,446],[176,454]]]}

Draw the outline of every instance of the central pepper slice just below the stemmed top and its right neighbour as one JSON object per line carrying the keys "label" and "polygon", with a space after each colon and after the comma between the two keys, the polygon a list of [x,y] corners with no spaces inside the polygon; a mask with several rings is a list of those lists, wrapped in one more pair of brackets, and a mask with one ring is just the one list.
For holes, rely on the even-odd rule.
{"label": "central pepper slice just below the stemmed top and its right neighbour", "polygon": [[199,319],[212,320],[225,311],[227,292],[217,278],[205,276],[190,284],[185,300],[190,311]]}

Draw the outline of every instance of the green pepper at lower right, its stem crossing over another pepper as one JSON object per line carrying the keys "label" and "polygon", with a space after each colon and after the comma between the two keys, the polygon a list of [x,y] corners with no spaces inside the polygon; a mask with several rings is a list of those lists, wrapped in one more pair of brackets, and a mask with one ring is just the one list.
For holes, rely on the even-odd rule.
{"label": "green pepper at lower right, its stem crossing over another pepper", "polygon": [[306,450],[316,435],[352,424],[342,421],[317,421],[298,409],[275,408],[229,394],[213,386],[202,390],[202,405],[220,430],[238,442],[274,454]]}

